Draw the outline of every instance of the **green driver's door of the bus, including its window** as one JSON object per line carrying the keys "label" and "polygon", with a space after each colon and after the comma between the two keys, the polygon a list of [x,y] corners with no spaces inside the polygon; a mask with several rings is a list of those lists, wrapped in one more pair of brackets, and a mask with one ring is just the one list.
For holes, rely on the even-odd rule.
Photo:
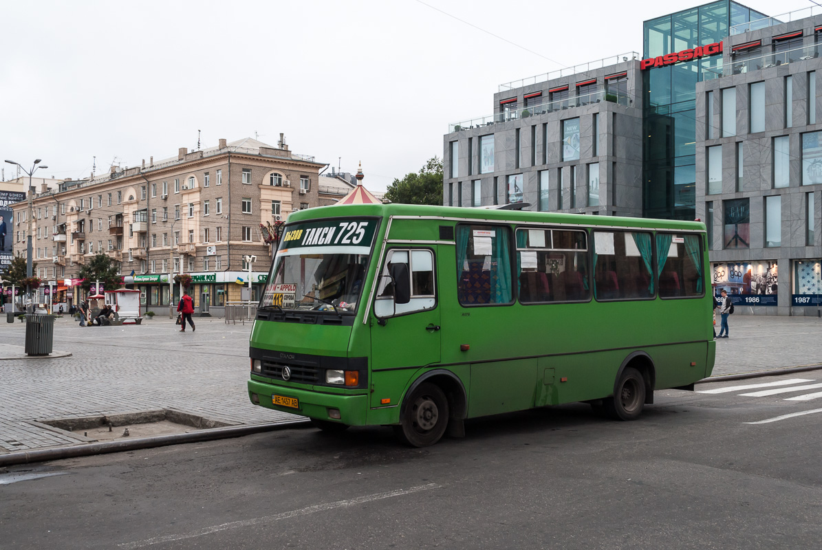
{"label": "green driver's door of the bus, including its window", "polygon": [[[440,362],[440,307],[436,293],[436,247],[391,248],[377,278],[371,329],[372,383],[404,387],[413,367]],[[408,370],[399,371],[396,369]],[[385,370],[381,369],[395,369]],[[375,372],[376,371],[376,372]],[[399,385],[399,386],[398,386]],[[376,405],[380,391],[372,393]],[[391,396],[396,404],[399,395]],[[373,405],[374,403],[372,403]]]}

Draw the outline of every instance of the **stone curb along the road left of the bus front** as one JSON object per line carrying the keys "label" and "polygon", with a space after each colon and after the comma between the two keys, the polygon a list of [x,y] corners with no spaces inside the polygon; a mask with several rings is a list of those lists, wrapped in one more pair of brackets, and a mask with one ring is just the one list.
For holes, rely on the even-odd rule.
{"label": "stone curb along the road left of the bus front", "polygon": [[44,462],[46,460],[77,458],[80,456],[103,455],[121,451],[152,449],[155,447],[178,445],[180,443],[194,443],[196,441],[229,439],[231,437],[251,435],[252,433],[274,432],[281,429],[307,428],[309,422],[307,419],[288,420],[279,423],[252,424],[251,426],[232,426],[230,428],[213,428],[191,433],[175,433],[168,436],[141,437],[130,441],[105,441],[103,443],[59,447],[57,449],[9,453],[8,455],[0,455],[0,467],[29,464],[31,462]]}

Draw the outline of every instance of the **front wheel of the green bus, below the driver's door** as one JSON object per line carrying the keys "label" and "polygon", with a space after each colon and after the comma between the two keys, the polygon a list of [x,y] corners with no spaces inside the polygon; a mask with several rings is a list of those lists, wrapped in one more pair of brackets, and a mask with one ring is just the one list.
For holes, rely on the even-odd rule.
{"label": "front wheel of the green bus, below the driver's door", "polygon": [[448,426],[448,400],[440,386],[423,382],[403,403],[395,433],[411,446],[427,447],[440,441]]}

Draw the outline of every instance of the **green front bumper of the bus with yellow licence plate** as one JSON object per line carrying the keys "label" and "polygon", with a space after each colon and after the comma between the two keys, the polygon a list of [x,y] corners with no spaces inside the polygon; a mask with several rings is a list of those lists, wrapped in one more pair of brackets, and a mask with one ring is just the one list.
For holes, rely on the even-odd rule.
{"label": "green front bumper of the bus with yellow licence plate", "polygon": [[[259,403],[254,400],[255,395]],[[367,423],[367,395],[326,394],[249,380],[248,399],[253,404],[283,413],[299,414],[308,418],[339,422],[349,426],[364,426]],[[296,405],[296,407],[275,404],[275,399],[279,403],[289,403]],[[297,400],[296,403],[293,400]],[[336,412],[339,412],[339,418],[331,416]]]}

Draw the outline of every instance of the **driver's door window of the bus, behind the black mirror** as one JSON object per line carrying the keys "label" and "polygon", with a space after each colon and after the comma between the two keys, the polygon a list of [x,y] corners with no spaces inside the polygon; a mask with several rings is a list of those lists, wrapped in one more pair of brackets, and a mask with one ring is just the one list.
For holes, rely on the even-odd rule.
{"label": "driver's door window of the bus, behind the black mirror", "polygon": [[[395,284],[403,281],[391,277],[396,273],[395,266],[402,264],[410,277],[404,281],[407,288],[404,293],[397,292]],[[409,295],[408,303],[395,303],[395,295]],[[390,250],[377,287],[374,313],[376,317],[391,317],[402,313],[411,313],[432,309],[436,305],[434,289],[434,254],[427,249]]]}

